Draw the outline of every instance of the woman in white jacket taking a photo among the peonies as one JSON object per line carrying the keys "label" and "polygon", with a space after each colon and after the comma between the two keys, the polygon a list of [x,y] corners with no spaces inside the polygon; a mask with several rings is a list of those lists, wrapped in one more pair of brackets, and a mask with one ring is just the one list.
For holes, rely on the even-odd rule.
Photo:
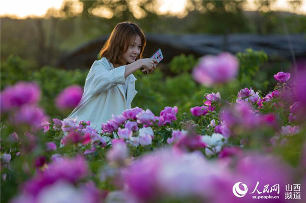
{"label": "woman in white jacket taking a photo among the peonies", "polygon": [[151,73],[156,60],[142,59],[146,44],[141,28],[131,22],[118,23],[100,50],[86,77],[84,93],[77,107],[68,115],[77,121],[91,122],[101,132],[101,124],[131,108],[137,91],[133,73],[140,68]]}

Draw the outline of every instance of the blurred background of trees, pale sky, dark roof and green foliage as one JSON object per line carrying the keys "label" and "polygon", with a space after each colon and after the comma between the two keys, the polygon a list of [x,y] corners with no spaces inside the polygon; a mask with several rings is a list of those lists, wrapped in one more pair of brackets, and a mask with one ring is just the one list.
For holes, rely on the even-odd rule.
{"label": "blurred background of trees, pale sky, dark roof and green foliage", "polygon": [[[273,74],[293,71],[306,56],[306,2],[294,1],[2,1],[1,91],[17,81],[36,81],[40,106],[51,118],[70,112],[55,107],[67,86],[84,86],[98,52],[121,21],[140,25],[147,36],[144,55],[161,48],[154,74],[134,75],[132,107],[154,113],[177,106],[179,115],[201,105],[205,93],[223,98],[252,87],[267,94]],[[237,81],[207,88],[192,68],[200,56],[222,51],[240,60]]]}

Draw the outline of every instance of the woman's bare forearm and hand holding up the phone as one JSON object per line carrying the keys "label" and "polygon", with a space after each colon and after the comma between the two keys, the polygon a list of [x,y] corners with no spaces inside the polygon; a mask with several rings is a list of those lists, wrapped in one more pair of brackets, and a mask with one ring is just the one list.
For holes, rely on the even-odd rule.
{"label": "woman's bare forearm and hand holding up the phone", "polygon": [[132,64],[128,64],[125,66],[124,77],[126,78],[140,68],[144,68],[145,71],[149,71],[149,73],[151,73],[156,68],[155,63],[157,64],[156,59],[140,59]]}

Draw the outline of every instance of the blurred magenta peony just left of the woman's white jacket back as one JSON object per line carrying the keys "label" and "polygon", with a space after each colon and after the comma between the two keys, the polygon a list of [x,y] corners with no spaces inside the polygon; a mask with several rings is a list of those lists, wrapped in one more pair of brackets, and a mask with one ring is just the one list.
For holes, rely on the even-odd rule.
{"label": "blurred magenta peony just left of the woman's white jacket back", "polygon": [[73,109],[81,101],[83,89],[78,85],[65,88],[56,98],[56,106],[61,109]]}

